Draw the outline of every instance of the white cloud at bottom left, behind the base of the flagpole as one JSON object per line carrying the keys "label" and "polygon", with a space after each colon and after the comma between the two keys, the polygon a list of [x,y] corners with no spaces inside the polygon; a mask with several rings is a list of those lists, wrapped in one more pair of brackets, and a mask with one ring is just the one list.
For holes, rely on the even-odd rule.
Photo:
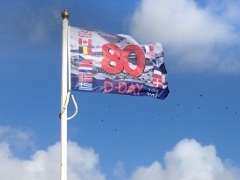
{"label": "white cloud at bottom left, behind the base of the flagpole", "polygon": [[[98,155],[92,149],[68,143],[68,179],[104,180],[98,167]],[[0,143],[0,179],[4,180],[59,180],[60,143],[46,151],[39,150],[29,160],[14,157],[9,145]]]}

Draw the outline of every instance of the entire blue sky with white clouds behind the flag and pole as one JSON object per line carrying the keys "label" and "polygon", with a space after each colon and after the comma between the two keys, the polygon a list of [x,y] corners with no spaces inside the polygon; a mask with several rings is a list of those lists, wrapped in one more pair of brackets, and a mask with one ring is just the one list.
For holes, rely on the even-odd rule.
{"label": "entire blue sky with white clouds behind the flag and pole", "polygon": [[60,177],[60,14],[67,9],[72,26],[161,42],[170,88],[163,101],[73,92],[80,110],[68,123],[69,179],[237,180],[239,5],[4,0],[0,179]]}

